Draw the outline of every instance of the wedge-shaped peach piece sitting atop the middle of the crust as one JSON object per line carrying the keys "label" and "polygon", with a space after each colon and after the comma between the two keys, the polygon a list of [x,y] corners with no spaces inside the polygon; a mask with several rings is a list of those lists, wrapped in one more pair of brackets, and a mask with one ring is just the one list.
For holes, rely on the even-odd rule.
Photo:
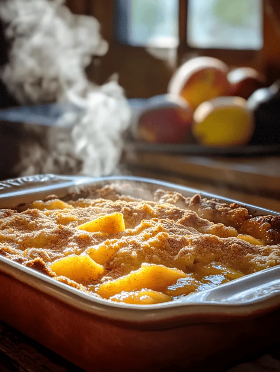
{"label": "wedge-shaped peach piece sitting atop the middle of the crust", "polygon": [[117,232],[125,230],[125,221],[123,220],[122,213],[115,212],[86,222],[78,228],[88,232],[101,231],[108,232],[109,234],[116,234]]}

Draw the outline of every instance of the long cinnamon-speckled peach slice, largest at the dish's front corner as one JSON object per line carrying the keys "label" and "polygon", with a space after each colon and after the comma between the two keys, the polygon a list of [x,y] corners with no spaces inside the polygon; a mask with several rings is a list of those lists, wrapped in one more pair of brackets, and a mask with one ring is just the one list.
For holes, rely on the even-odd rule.
{"label": "long cinnamon-speckled peach slice, largest at the dish's front corner", "polygon": [[97,294],[110,298],[122,291],[140,291],[143,288],[164,292],[177,279],[186,278],[186,276],[184,272],[174,268],[143,263],[140,269],[128,275],[100,284]]}

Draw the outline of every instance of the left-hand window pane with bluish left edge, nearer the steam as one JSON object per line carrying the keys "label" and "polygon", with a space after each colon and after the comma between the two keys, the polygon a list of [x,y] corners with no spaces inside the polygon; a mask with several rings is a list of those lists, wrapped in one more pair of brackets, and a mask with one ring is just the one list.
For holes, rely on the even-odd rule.
{"label": "left-hand window pane with bluish left edge, nearer the steam", "polygon": [[115,22],[117,38],[124,44],[178,45],[178,0],[118,0]]}

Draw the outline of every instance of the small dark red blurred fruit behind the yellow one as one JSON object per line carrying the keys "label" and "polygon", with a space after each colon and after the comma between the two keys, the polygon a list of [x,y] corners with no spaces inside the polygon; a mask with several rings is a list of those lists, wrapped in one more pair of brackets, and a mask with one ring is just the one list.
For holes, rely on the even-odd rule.
{"label": "small dark red blurred fruit behind the yellow one", "polygon": [[256,89],[265,84],[265,77],[251,67],[240,67],[228,73],[231,95],[248,99]]}

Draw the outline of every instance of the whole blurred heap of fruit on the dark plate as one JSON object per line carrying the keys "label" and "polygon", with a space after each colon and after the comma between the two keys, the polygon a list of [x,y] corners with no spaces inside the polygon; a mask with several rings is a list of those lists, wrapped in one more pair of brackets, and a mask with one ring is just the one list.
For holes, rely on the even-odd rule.
{"label": "whole blurred heap of fruit on the dark plate", "polygon": [[[171,78],[168,94],[145,99],[134,112],[132,135],[150,143],[234,147],[280,143],[280,80],[217,58],[196,57]],[[248,101],[247,101],[248,99]]]}

